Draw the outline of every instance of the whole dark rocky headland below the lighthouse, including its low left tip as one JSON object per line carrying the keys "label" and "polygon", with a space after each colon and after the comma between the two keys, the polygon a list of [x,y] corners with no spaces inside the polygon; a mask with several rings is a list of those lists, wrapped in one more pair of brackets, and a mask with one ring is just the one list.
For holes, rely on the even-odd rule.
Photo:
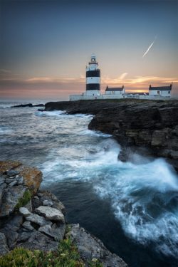
{"label": "whole dark rocky headland below the lighthouse, including its low left tip", "polygon": [[80,100],[46,103],[45,111],[95,115],[88,128],[111,134],[132,155],[164,157],[178,171],[178,100]]}

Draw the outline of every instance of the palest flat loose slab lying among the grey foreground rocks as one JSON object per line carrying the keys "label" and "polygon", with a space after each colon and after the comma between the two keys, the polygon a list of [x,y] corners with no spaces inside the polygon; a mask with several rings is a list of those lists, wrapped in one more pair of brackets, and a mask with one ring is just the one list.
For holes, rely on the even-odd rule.
{"label": "palest flat loose slab lying among the grey foreground rocks", "polygon": [[35,211],[45,216],[48,220],[65,222],[62,212],[58,209],[51,208],[51,206],[38,206]]}

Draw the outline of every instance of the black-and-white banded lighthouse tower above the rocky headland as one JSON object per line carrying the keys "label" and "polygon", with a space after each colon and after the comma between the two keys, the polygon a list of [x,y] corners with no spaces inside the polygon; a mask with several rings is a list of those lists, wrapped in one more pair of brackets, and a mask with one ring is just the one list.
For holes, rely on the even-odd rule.
{"label": "black-and-white banded lighthouse tower above the rocky headland", "polygon": [[91,60],[86,67],[85,95],[93,96],[95,99],[100,96],[100,69],[94,54],[91,56]]}

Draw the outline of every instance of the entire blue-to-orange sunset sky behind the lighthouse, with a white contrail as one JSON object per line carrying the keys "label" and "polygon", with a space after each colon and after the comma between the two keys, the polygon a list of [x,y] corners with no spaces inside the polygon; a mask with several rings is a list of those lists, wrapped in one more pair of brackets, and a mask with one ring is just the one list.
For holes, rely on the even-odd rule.
{"label": "entire blue-to-orange sunset sky behind the lighthouse, with a white contrail", "polygon": [[95,53],[106,86],[178,96],[178,0],[0,0],[0,99],[68,100]]}

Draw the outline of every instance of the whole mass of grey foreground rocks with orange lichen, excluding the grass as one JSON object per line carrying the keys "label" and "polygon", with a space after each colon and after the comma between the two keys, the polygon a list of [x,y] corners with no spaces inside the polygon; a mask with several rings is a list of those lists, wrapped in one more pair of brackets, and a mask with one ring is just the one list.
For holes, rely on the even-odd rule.
{"label": "whole mass of grey foreground rocks with orange lichen, excluding the grass", "polygon": [[39,190],[41,181],[42,173],[36,168],[0,162],[0,256],[18,246],[57,251],[59,241],[70,237],[86,267],[93,259],[103,267],[126,267],[100,239],[79,224],[67,224],[65,207],[51,192]]}

